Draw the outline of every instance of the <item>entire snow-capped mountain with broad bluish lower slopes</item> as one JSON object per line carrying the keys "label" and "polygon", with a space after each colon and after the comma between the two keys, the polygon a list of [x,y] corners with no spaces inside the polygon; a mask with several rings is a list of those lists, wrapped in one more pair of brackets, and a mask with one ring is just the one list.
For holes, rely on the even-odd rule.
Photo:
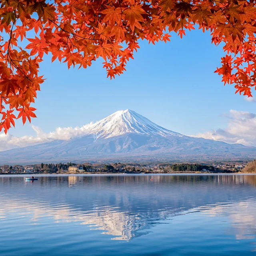
{"label": "entire snow-capped mountain with broad bluish lower slopes", "polygon": [[85,135],[0,152],[0,163],[56,161],[250,160],[256,147],[194,138],[154,124],[132,110],[120,110],[83,126]]}

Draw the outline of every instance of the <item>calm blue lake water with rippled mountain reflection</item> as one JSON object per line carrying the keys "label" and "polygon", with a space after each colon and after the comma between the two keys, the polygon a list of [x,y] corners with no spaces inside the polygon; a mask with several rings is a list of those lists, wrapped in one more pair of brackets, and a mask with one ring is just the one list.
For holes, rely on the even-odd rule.
{"label": "calm blue lake water with rippled mountain reflection", "polygon": [[255,175],[37,177],[0,176],[1,256],[256,255]]}

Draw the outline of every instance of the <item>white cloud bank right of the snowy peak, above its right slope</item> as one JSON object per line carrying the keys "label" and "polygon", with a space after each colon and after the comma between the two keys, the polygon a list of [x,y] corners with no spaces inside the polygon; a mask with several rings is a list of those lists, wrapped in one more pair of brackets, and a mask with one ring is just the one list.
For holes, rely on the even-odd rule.
{"label": "white cloud bank right of the snowy peak, above its right slope", "polygon": [[256,114],[230,110],[224,116],[228,118],[227,128],[211,130],[192,136],[220,140],[230,144],[239,143],[245,146],[256,146]]}

